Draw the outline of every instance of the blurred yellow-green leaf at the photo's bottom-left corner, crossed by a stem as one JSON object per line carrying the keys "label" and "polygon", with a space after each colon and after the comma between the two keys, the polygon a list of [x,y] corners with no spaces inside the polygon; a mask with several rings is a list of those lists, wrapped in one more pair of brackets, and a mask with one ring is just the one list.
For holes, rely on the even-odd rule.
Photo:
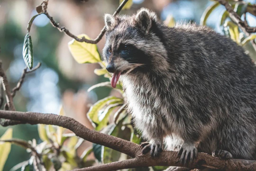
{"label": "blurred yellow-green leaf at the photo's bottom-left corner, crossed by a stem", "polygon": [[[9,128],[9,129],[6,130],[4,135],[2,135],[0,140],[11,139],[12,136],[13,136],[13,129]],[[10,143],[0,142],[0,171],[2,171],[3,168],[4,168],[4,164],[5,164],[5,162],[8,158],[10,150],[11,150],[11,144]]]}

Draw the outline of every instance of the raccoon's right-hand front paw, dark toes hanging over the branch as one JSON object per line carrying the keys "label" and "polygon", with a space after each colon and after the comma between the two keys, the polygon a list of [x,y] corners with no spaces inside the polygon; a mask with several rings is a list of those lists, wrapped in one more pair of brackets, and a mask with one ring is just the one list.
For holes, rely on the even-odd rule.
{"label": "raccoon's right-hand front paw, dark toes hanging over the branch", "polygon": [[197,157],[197,148],[194,144],[183,143],[179,149],[178,156],[181,164],[189,164]]}

